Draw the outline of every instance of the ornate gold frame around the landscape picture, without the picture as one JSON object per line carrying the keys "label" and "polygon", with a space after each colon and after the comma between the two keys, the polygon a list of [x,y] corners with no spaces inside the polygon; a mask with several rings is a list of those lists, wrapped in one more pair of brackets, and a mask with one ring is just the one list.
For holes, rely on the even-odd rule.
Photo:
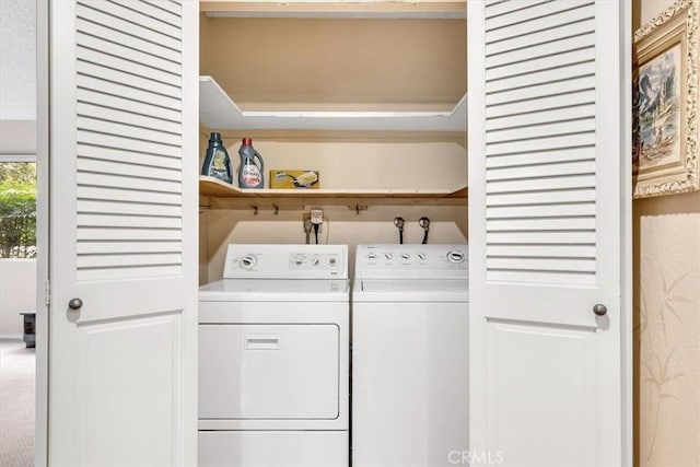
{"label": "ornate gold frame around the landscape picture, without the picture", "polygon": [[[644,156],[644,143],[640,139],[641,98],[633,101],[633,197],[648,198],[653,196],[673,195],[700,189],[698,177],[698,44],[700,32],[698,28],[698,3],[693,0],[679,0],[662,12],[658,16],[644,24],[634,33],[635,56],[633,62],[633,83],[635,96],[644,83],[640,82],[640,71],[655,60],[670,57],[674,48],[679,47],[680,73],[678,86],[679,125],[674,133],[674,156],[662,156],[658,161]],[[676,49],[678,50],[678,49]],[[649,80],[646,82],[649,84]],[[663,115],[663,114],[662,114]],[[649,119],[649,117],[646,117]],[[649,125],[648,125],[649,127]],[[653,131],[657,131],[658,140],[663,135],[664,124],[657,120],[651,124]],[[649,130],[649,128],[646,128]],[[649,137],[649,136],[648,136]],[[670,137],[667,138],[670,140]],[[646,162],[646,164],[644,164]],[[646,165],[646,166],[644,166]]]}

